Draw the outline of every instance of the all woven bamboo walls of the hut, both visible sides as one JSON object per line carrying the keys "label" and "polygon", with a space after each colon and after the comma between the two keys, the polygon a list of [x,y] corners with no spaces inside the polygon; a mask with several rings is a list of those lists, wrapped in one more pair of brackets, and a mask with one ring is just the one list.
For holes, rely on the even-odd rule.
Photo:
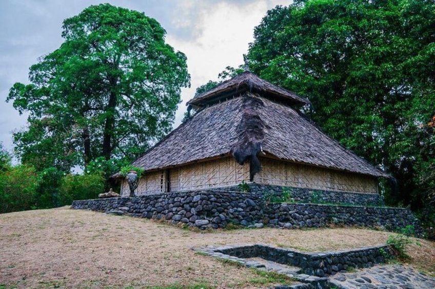
{"label": "all woven bamboo walls of the hut, both visible sides", "polygon": [[[317,190],[378,192],[378,182],[375,177],[265,158],[261,158],[260,161],[262,171],[255,175],[255,183]],[[139,181],[136,194],[235,186],[249,180],[249,164],[241,166],[232,157],[226,157],[171,168],[168,176],[169,180],[166,177],[166,170],[146,172]],[[126,180],[123,181],[121,192],[123,196],[130,194]]]}

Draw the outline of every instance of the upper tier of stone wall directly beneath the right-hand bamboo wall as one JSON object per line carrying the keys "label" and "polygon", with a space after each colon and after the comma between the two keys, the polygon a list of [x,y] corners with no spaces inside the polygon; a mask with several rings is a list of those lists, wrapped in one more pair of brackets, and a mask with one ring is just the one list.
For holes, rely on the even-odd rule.
{"label": "upper tier of stone wall directly beneath the right-hand bamboo wall", "polygon": [[[263,184],[247,184],[249,192],[268,195],[282,196],[283,191],[290,194],[291,201],[299,203],[315,204],[346,204],[355,206],[384,206],[385,203],[379,194],[373,193],[351,193],[326,190],[312,190],[306,188],[283,187]],[[238,191],[238,186],[213,189],[216,191]]]}

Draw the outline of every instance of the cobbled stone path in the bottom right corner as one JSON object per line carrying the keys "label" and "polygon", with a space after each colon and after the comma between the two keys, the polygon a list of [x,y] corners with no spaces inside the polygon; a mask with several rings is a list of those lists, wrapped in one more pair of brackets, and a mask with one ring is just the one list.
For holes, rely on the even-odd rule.
{"label": "cobbled stone path in the bottom right corner", "polygon": [[433,289],[435,278],[403,265],[378,265],[329,277],[337,289]]}

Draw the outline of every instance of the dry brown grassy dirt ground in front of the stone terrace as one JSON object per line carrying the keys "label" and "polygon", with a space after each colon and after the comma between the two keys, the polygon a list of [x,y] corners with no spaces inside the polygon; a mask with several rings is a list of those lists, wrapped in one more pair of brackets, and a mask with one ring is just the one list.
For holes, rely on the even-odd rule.
{"label": "dry brown grassy dirt ground in front of the stone terrace", "polygon": [[[0,289],[262,288],[254,270],[195,254],[191,247],[263,243],[301,251],[383,244],[363,229],[241,229],[194,232],[154,220],[68,207],[0,215]],[[409,265],[433,275],[435,243],[418,240]]]}

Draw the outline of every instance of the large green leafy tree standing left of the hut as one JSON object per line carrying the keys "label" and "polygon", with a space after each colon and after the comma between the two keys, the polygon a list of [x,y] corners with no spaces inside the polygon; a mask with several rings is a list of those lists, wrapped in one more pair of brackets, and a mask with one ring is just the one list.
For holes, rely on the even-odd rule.
{"label": "large green leafy tree standing left of the hut", "polygon": [[90,6],[63,23],[62,46],[15,83],[8,101],[28,112],[14,134],[23,162],[37,169],[134,158],[171,128],[186,56],[165,43],[165,30],[144,13]]}

